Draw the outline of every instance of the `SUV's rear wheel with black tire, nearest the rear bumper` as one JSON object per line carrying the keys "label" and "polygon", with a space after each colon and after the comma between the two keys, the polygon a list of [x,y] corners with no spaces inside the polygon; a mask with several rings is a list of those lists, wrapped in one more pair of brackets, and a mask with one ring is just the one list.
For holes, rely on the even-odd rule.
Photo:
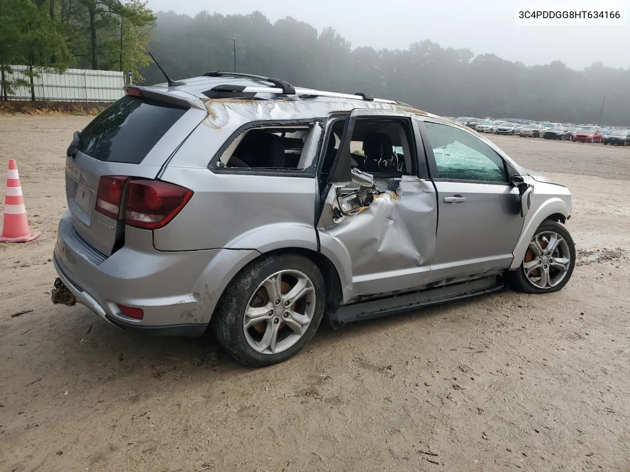
{"label": "SUV's rear wheel with black tire, nearest the rear bumper", "polygon": [[[289,284],[289,288],[286,289],[287,291],[282,288],[282,293],[277,296],[278,300],[282,299],[279,303],[278,300],[267,300],[266,303],[263,303],[265,301],[265,295],[266,298],[271,296],[266,291],[267,289],[263,287],[263,284],[268,284],[267,286],[271,286],[272,289],[275,289],[273,287],[276,286],[275,280],[277,279],[275,278],[278,274],[280,274],[278,281],[280,286],[284,287],[284,284],[287,283]],[[311,290],[307,291],[305,295],[296,298],[293,305],[284,308],[285,303],[289,303],[289,300],[285,301],[284,297],[288,295],[290,289],[293,288],[290,286],[291,279],[295,279],[296,285],[298,283],[297,281],[303,280],[295,276],[300,278],[304,276],[307,282],[310,283]],[[308,285],[308,283],[306,285]],[[263,295],[262,299],[260,298],[261,293]],[[261,317],[266,317],[264,320],[260,318],[260,322],[252,324],[247,328],[246,309],[248,307],[253,308],[251,306],[253,303],[257,305],[263,303],[259,308],[269,305],[268,308],[270,311],[261,315]],[[297,307],[297,304],[301,306]],[[325,305],[326,286],[324,284],[324,278],[314,262],[307,257],[290,252],[267,255],[251,262],[232,279],[217,303],[214,316],[212,317],[212,324],[219,344],[221,344],[236,361],[251,367],[269,366],[286,361],[311,340],[323,318]],[[304,329],[301,334],[297,335],[291,328],[291,325],[301,325],[301,322],[298,322],[297,318],[294,318],[292,315],[289,318],[288,313],[284,312],[284,310],[288,310],[289,313],[294,313],[294,315],[299,315],[299,317],[306,317],[303,318],[304,320],[308,319],[306,311],[311,311],[310,322],[306,329],[304,329],[304,325],[301,326],[301,329]],[[304,310],[304,314],[297,313],[302,310]],[[270,313],[272,313],[272,315],[270,315]],[[285,315],[287,315],[286,318],[291,319],[291,323],[288,321],[287,323],[284,322],[283,318]],[[248,322],[258,318],[258,316],[248,317]],[[262,327],[261,324],[263,325]],[[275,337],[272,334],[268,338],[265,338],[269,329],[272,329],[272,333],[273,330],[275,330]],[[263,330],[263,332],[260,330]],[[287,336],[284,339],[278,340],[281,332],[282,335],[286,334]],[[258,335],[260,340],[256,340],[252,333]],[[297,339],[290,338],[291,336],[295,337],[295,335],[297,335]],[[262,349],[262,346],[264,346],[269,339],[276,339],[276,341],[273,342],[273,346],[275,346],[276,349],[282,350],[273,353],[272,344],[269,344],[269,346],[261,352],[260,349]],[[282,348],[281,343],[285,343],[285,349]],[[253,345],[257,347],[255,348]],[[267,349],[269,349],[270,352],[265,352]]]}

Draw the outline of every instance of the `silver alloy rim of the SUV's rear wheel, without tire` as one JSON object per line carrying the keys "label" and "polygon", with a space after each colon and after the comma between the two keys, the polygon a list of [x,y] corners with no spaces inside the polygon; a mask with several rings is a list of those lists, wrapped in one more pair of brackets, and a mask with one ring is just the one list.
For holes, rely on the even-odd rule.
{"label": "silver alloy rim of the SUV's rear wheel, without tire", "polygon": [[261,354],[286,351],[304,335],[315,312],[315,289],[300,271],[272,274],[249,298],[243,331],[249,346]]}

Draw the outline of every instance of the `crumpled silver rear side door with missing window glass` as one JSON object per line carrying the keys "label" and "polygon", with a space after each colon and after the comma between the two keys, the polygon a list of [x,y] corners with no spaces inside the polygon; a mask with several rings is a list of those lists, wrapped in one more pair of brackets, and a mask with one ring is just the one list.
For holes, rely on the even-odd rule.
{"label": "crumpled silver rear side door with missing window glass", "polygon": [[[379,116],[388,113],[378,112]],[[357,117],[374,116],[369,113],[353,111],[347,127],[352,128]],[[410,121],[410,149],[412,159],[417,159],[422,147],[413,126]],[[341,146],[349,145],[346,137]],[[343,301],[426,284],[435,253],[436,225],[437,199],[428,179],[355,172],[350,182],[332,182],[317,229],[321,252],[338,268]]]}

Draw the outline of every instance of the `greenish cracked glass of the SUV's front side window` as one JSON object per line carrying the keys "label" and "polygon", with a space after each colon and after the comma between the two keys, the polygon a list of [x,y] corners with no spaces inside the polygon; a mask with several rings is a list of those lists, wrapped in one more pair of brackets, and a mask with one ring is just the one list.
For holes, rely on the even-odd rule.
{"label": "greenish cracked glass of the SUV's front side window", "polygon": [[490,146],[458,128],[425,121],[440,179],[507,182],[505,164]]}

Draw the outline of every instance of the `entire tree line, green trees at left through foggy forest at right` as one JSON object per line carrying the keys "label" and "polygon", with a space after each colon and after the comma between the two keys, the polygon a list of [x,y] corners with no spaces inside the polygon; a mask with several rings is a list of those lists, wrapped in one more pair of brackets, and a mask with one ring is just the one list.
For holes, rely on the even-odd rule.
{"label": "entire tree line, green trees at left through foggy forest at right", "polygon": [[406,49],[353,48],[333,28],[318,32],[291,17],[272,23],[260,11],[191,17],[154,14],[142,0],[0,0],[0,98],[21,85],[8,80],[11,64],[28,66],[33,99],[39,67],[132,70],[136,82],[163,82],[147,50],[178,79],[230,71],[236,60],[239,72],[364,92],[439,115],[571,123],[597,123],[605,97],[602,124],[630,125],[630,68],[600,62],[573,70],[558,57],[526,66],[430,40]]}

